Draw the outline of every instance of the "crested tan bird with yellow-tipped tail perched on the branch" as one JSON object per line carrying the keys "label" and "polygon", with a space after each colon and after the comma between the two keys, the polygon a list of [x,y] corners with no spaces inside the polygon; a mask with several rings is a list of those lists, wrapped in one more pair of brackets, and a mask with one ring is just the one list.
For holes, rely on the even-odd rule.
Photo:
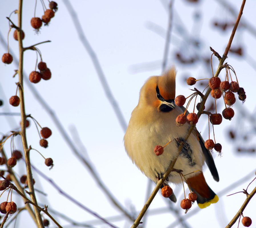
{"label": "crested tan bird with yellow-tipped tail perched on the branch", "polygon": [[[150,77],[140,90],[138,105],[132,111],[126,133],[124,147],[132,162],[153,182],[157,183],[164,175],[170,163],[178,156],[175,169],[186,175],[187,184],[197,194],[199,208],[205,208],[218,201],[218,196],[211,190],[203,176],[202,166],[207,164],[215,181],[219,175],[213,157],[204,146],[204,141],[197,130],[185,137],[189,123],[178,127],[176,117],[186,108],[175,105],[176,69],[171,67],[160,76]],[[188,114],[188,112],[187,112]],[[166,145],[164,152],[157,156],[156,145]],[[178,155],[178,147],[183,148]],[[197,172],[195,172],[197,171]],[[180,184],[184,177],[178,172],[170,172],[164,184]],[[161,186],[161,188],[164,185]],[[172,194],[170,200],[176,202]]]}

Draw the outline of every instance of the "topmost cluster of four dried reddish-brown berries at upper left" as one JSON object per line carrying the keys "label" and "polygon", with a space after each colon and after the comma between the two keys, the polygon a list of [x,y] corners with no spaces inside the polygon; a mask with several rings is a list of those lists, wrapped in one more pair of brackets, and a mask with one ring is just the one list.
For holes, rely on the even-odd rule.
{"label": "topmost cluster of four dried reddish-brown berries at upper left", "polygon": [[57,7],[57,3],[54,1],[51,1],[49,3],[49,8],[50,9],[46,9],[45,10],[45,14],[42,16],[42,19],[40,17],[33,17],[30,21],[31,26],[33,28],[35,28],[35,30],[39,30],[39,28],[41,28],[43,22],[45,23],[45,25],[48,25],[48,23],[50,22],[50,20],[54,17],[55,15],[55,11],[57,11],[58,7]]}

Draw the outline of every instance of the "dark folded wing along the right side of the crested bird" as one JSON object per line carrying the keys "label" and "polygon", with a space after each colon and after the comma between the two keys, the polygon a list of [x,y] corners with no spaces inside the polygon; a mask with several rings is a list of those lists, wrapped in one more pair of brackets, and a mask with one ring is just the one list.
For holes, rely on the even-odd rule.
{"label": "dark folded wing along the right side of the crested bird", "polygon": [[[185,112],[186,108],[184,106],[180,107],[182,108],[182,110]],[[188,110],[186,111],[186,115],[188,115],[189,112]],[[205,162],[207,164],[207,166],[209,167],[209,170],[211,172],[211,175],[213,176],[213,179],[216,180],[217,182],[219,181],[219,174],[218,171],[216,169],[213,157],[211,155],[211,152],[205,148],[204,145],[204,140],[202,138],[202,136],[200,135],[200,133],[196,130],[196,128],[194,128],[195,131],[193,131],[193,134],[197,135],[197,138],[199,139],[199,143],[201,145],[202,151],[203,151],[203,155],[205,157]]]}

